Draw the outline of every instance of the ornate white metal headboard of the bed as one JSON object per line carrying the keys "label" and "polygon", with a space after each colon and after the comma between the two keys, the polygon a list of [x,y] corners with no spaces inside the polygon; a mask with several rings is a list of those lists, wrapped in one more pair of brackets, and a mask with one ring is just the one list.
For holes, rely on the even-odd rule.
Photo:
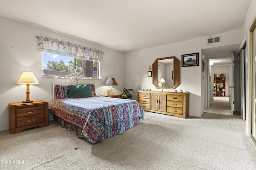
{"label": "ornate white metal headboard of the bed", "polygon": [[70,76],[58,76],[52,82],[52,99],[56,98],[55,86],[56,84],[62,86],[69,85],[78,85],[78,84],[94,84],[96,85],[96,81],[92,77],[84,77],[81,75],[80,70],[74,70],[74,73]]}

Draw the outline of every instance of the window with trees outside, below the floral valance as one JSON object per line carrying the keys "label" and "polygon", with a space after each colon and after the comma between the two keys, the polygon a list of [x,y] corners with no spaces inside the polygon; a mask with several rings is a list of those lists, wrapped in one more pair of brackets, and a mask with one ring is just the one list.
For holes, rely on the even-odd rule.
{"label": "window with trees outside, below the floral valance", "polygon": [[79,68],[82,75],[98,78],[98,62],[43,53],[43,76],[69,76]]}

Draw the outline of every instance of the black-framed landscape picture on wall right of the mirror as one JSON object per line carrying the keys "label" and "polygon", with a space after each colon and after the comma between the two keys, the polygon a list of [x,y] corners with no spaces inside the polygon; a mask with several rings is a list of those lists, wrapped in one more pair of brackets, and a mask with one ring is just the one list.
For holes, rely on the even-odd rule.
{"label": "black-framed landscape picture on wall right of the mirror", "polygon": [[181,66],[199,66],[199,53],[181,55]]}

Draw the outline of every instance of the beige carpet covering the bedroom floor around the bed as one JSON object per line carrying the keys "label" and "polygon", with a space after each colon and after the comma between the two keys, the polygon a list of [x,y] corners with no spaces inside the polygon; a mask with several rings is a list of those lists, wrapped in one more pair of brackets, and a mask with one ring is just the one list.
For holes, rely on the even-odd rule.
{"label": "beige carpet covering the bedroom floor around the bed", "polygon": [[256,170],[256,147],[244,131],[245,121],[236,116],[146,112],[124,134],[90,145],[50,121],[12,135],[0,131],[0,160],[10,160],[0,169]]}

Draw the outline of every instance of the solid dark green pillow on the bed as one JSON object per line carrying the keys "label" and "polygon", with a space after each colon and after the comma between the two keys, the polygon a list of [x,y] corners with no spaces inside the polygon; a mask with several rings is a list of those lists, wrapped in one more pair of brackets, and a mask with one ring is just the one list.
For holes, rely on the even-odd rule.
{"label": "solid dark green pillow on the bed", "polygon": [[69,87],[70,98],[88,98],[92,97],[91,87],[88,84],[71,85]]}

